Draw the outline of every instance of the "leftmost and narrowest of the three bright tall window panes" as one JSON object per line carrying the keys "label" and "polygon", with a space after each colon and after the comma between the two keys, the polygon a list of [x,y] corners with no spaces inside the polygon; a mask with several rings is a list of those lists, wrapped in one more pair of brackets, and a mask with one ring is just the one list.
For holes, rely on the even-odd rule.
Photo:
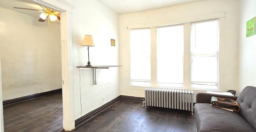
{"label": "leftmost and narrowest of the three bright tall window panes", "polygon": [[130,31],[131,85],[150,86],[150,29]]}

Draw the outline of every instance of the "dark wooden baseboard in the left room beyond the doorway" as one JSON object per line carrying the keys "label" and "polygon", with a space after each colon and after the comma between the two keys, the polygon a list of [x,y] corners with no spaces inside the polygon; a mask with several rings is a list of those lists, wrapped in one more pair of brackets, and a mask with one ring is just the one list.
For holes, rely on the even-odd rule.
{"label": "dark wooden baseboard in the left room beyond the doorway", "polygon": [[22,102],[25,100],[30,100],[30,99],[34,99],[40,96],[48,96],[51,95],[53,93],[58,93],[58,92],[62,92],[62,89],[56,89],[56,90],[52,90],[52,91],[48,91],[48,92],[44,92],[44,93],[37,93],[34,95],[28,95],[28,96],[24,96],[24,97],[20,97],[20,98],[16,98],[16,99],[10,99],[10,100],[4,100],[3,101],[3,106],[9,105],[9,104],[14,104],[17,102]]}

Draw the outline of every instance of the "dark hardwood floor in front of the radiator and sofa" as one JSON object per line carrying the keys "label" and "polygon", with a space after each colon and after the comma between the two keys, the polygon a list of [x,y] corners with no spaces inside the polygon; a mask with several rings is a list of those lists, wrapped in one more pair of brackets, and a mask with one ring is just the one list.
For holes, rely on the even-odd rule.
{"label": "dark hardwood floor in front of the radiator and sofa", "polygon": [[190,111],[148,107],[141,102],[119,100],[72,132],[195,132]]}

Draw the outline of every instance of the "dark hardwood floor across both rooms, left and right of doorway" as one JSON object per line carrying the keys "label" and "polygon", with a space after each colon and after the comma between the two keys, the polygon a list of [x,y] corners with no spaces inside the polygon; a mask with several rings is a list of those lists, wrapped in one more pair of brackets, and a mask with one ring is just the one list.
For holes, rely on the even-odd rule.
{"label": "dark hardwood floor across both rooms, left and right of doorway", "polygon": [[[118,100],[71,132],[195,132],[190,111],[141,106]],[[5,132],[65,132],[62,129],[62,95],[38,97],[4,106]]]}

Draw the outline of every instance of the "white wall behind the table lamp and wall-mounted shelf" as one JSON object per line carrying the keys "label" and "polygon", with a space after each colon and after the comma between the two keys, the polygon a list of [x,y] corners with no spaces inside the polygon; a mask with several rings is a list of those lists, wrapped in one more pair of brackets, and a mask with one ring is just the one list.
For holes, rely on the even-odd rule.
{"label": "white wall behind the table lamp and wall-mounted shelf", "polygon": [[[76,68],[87,65],[88,62],[87,47],[81,45],[86,34],[92,35],[95,45],[89,48],[91,65],[119,65],[119,18],[118,14],[97,0],[73,0],[73,4],[72,52],[76,120],[120,95],[119,67],[97,69],[97,85],[93,84],[92,69],[81,69],[79,73]],[[110,39],[116,40],[115,47],[110,45]]]}

